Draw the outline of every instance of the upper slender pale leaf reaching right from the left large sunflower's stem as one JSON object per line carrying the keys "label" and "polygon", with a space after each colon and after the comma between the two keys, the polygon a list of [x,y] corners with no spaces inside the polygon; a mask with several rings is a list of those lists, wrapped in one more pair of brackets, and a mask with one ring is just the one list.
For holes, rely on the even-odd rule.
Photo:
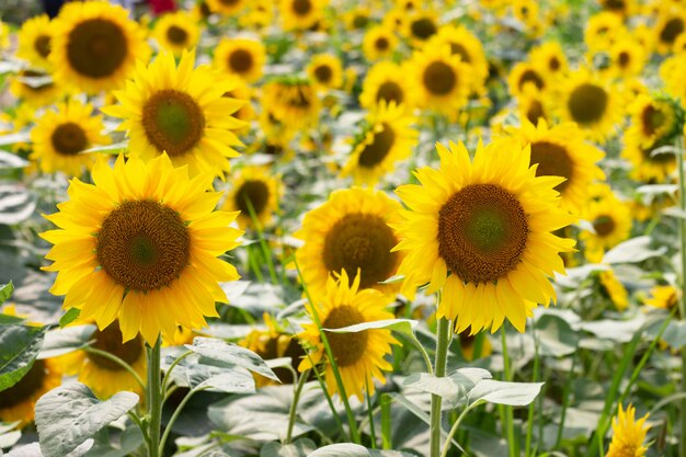
{"label": "upper slender pale leaf reaching right from the left large sunflower's stem", "polygon": [[281,382],[278,377],[266,366],[262,357],[239,345],[227,343],[215,338],[197,336],[193,344],[185,345],[188,350],[222,366],[241,366],[266,378]]}

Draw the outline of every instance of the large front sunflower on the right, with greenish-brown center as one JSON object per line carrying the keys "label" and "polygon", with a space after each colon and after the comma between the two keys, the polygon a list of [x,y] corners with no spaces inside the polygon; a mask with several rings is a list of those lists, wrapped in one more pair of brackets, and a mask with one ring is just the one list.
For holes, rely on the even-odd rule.
{"label": "large front sunflower on the right, with greenish-brown center", "polygon": [[428,283],[428,294],[443,288],[437,317],[458,333],[495,332],[505,318],[524,332],[536,304],[556,299],[548,277],[564,272],[558,253],[574,245],[552,235],[575,220],[559,205],[561,178],[536,176],[530,149],[514,139],[479,144],[473,161],[461,142],[449,146],[437,145],[439,170],[419,169],[421,185],[396,191],[410,208],[391,224],[393,251],[407,251],[398,274]]}

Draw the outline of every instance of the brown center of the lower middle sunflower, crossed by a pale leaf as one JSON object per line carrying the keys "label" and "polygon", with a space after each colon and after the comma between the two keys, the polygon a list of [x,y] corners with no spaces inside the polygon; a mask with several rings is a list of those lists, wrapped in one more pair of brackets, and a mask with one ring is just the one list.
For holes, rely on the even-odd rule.
{"label": "brown center of the lower middle sunflower, crossed by a pale leaf", "polygon": [[[364,321],[365,317],[362,312],[352,306],[344,305],[333,308],[321,323],[321,327],[324,329],[342,329]],[[367,341],[369,340],[368,332],[368,330],[354,333],[327,332],[331,353],[340,367],[355,365],[364,357],[367,350]]]}

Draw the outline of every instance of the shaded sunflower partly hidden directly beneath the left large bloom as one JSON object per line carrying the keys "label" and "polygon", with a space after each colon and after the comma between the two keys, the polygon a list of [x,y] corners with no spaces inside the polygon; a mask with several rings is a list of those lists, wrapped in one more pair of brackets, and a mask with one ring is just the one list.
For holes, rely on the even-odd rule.
{"label": "shaded sunflower partly hidden directly beneath the left large bloom", "polygon": [[[114,320],[104,329],[96,329],[90,340],[92,341],[91,347],[119,357],[134,368],[144,381],[146,380],[148,357],[146,355],[146,342],[140,333],[123,343],[119,322]],[[142,395],[142,387],[136,378],[122,365],[104,355],[76,351],[57,359],[65,367],[67,375],[78,375],[79,381],[90,387],[93,393],[102,400],[108,399],[122,390]]]}

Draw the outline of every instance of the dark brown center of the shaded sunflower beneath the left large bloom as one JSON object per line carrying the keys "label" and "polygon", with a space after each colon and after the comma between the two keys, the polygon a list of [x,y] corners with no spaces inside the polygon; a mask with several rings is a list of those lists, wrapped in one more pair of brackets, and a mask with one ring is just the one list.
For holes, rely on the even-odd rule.
{"label": "dark brown center of the shaded sunflower beneath the left large bloom", "polygon": [[[142,339],[140,334],[137,334],[135,339],[126,343],[122,343],[123,336],[117,321],[112,322],[104,330],[95,330],[91,340],[95,340],[92,344],[93,349],[117,356],[129,365],[136,363],[142,353]],[[85,354],[88,358],[100,368],[110,372],[121,372],[124,369],[119,364],[103,355],[91,352],[87,352]]]}

